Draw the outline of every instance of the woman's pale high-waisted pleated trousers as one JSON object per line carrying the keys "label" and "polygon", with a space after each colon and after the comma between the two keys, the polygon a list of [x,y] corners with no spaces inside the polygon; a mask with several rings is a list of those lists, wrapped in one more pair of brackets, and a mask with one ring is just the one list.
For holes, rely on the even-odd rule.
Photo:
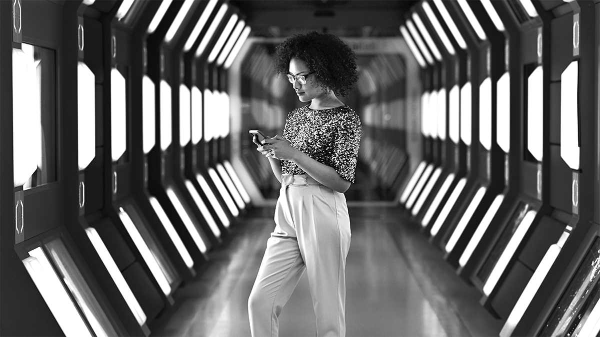
{"label": "woman's pale high-waisted pleated trousers", "polygon": [[306,270],[317,336],[344,337],[344,270],[350,248],[346,198],[310,176],[282,178],[275,230],[248,299],[252,336],[278,336],[278,317]]}

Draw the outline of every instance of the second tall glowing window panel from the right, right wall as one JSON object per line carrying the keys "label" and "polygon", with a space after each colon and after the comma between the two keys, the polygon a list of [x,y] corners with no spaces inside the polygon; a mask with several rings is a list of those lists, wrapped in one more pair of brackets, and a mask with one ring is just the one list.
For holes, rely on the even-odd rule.
{"label": "second tall glowing window panel from the right, right wall", "polygon": [[536,160],[544,152],[544,70],[538,66],[527,79],[527,148]]}

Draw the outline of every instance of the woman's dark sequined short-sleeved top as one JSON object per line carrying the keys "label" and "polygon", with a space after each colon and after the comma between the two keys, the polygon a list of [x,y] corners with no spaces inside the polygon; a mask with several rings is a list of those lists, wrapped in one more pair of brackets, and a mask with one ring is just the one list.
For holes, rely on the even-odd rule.
{"label": "woman's dark sequined short-sleeved top", "polygon": [[[308,106],[289,113],[283,137],[293,148],[331,166],[343,179],[354,182],[361,119],[348,106],[313,110]],[[281,162],[281,172],[306,174],[293,161]]]}

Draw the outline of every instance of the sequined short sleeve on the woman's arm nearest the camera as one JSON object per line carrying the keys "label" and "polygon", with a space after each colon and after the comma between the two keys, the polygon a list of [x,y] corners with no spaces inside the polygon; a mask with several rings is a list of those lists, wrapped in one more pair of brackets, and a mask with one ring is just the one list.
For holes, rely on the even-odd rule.
{"label": "sequined short sleeve on the woman's arm nearest the camera", "polygon": [[354,182],[358,148],[361,143],[361,119],[350,110],[340,113],[338,122],[332,164],[340,177]]}

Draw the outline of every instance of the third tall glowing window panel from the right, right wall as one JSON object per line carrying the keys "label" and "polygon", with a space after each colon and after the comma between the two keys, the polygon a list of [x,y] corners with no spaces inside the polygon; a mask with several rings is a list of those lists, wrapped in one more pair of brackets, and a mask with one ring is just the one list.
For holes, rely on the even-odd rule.
{"label": "third tall glowing window panel from the right, right wall", "polygon": [[508,154],[511,149],[511,77],[508,72],[496,83],[496,141]]}

